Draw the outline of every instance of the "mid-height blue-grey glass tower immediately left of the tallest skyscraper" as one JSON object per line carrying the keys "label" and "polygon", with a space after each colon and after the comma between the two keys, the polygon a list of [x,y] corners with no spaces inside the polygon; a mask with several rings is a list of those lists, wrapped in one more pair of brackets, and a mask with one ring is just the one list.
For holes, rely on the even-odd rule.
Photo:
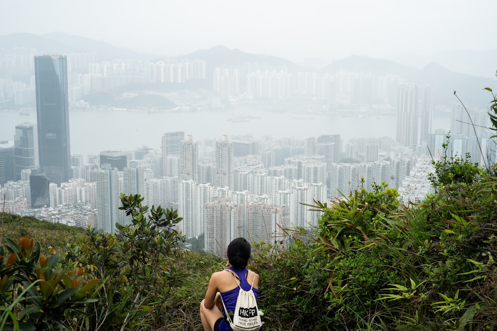
{"label": "mid-height blue-grey glass tower immediately left of the tallest skyscraper", "polygon": [[20,181],[23,169],[35,167],[33,124],[21,123],[15,126],[14,154],[15,180]]}

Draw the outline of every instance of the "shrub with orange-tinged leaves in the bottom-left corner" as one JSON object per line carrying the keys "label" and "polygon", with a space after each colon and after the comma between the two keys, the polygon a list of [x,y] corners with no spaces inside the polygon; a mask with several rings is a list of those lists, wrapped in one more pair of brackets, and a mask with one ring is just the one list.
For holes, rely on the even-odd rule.
{"label": "shrub with orange-tinged leaves in the bottom-left corner", "polygon": [[[59,330],[82,326],[99,280],[60,255],[40,254],[29,237],[0,246],[1,330]],[[10,319],[9,319],[10,318]]]}

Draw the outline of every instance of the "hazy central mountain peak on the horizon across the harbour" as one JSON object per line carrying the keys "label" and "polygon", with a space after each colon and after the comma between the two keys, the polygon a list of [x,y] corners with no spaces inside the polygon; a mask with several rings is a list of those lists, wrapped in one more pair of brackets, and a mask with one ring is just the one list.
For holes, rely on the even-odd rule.
{"label": "hazy central mountain peak on the horizon across the harbour", "polygon": [[[207,62],[207,69],[209,71],[214,70],[217,66],[223,65],[242,65],[244,63],[258,62],[260,64],[265,63],[268,67],[282,67],[287,66],[289,70],[302,70],[303,68],[291,61],[285,60],[283,58],[278,58],[275,56],[263,55],[263,54],[250,54],[245,53],[240,50],[234,49],[230,50],[225,46],[214,46],[207,50],[198,50],[184,56],[177,57],[179,59],[190,59],[190,60],[204,60]],[[261,70],[264,68],[261,67]],[[209,72],[208,71],[208,72]]]}

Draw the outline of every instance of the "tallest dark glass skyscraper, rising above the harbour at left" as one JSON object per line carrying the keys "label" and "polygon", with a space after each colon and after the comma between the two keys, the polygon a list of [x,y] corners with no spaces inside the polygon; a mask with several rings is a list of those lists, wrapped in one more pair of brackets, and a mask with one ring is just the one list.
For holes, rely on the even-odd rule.
{"label": "tallest dark glass skyscraper, rising above the harbour at left", "polygon": [[67,58],[35,56],[34,67],[40,168],[60,186],[71,178]]}

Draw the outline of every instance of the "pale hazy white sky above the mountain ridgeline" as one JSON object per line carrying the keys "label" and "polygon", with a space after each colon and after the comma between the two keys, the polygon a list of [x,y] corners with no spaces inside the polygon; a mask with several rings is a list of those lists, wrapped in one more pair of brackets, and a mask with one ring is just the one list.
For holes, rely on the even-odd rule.
{"label": "pale hazy white sky above the mountain ridgeline", "polygon": [[0,0],[0,34],[64,32],[165,56],[224,45],[298,62],[492,49],[496,13],[497,0]]}

